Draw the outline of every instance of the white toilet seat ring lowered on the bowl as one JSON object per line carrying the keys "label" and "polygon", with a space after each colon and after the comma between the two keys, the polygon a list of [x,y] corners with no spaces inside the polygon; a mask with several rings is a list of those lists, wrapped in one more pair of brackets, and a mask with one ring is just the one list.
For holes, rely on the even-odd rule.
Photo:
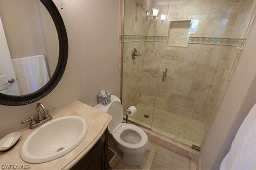
{"label": "white toilet seat ring lowered on the bowl", "polygon": [[[127,143],[127,142],[123,141],[121,139],[121,134],[125,130],[132,130],[132,131],[138,133],[141,137],[140,142],[136,143],[136,144],[132,144],[132,143]],[[135,125],[131,125],[131,124],[127,124],[127,123],[122,123],[122,126],[115,133],[112,133],[112,135],[113,135],[114,139],[122,147],[127,148],[127,149],[140,149],[140,148],[144,147],[148,141],[148,136],[142,129],[140,129],[139,127],[137,127]]]}

